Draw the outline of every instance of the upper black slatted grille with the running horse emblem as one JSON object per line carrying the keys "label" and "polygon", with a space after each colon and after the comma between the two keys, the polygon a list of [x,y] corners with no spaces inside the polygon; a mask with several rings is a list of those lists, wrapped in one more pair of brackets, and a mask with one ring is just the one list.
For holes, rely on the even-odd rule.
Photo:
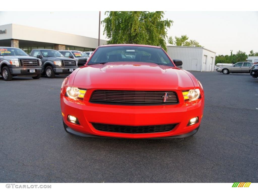
{"label": "upper black slatted grille with the running horse emblem", "polygon": [[[168,98],[164,101],[165,96]],[[173,91],[95,90],[90,102],[113,105],[170,105],[178,103],[178,97]]]}

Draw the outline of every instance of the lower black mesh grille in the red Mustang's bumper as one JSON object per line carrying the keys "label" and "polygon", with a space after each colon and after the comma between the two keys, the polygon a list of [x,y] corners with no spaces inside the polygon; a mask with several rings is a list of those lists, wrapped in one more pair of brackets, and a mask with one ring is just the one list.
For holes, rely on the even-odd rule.
{"label": "lower black mesh grille in the red Mustang's bumper", "polygon": [[102,123],[91,123],[96,130],[117,132],[117,133],[157,133],[167,132],[174,129],[176,124],[168,125],[144,125],[144,126],[128,126],[128,125],[110,125]]}

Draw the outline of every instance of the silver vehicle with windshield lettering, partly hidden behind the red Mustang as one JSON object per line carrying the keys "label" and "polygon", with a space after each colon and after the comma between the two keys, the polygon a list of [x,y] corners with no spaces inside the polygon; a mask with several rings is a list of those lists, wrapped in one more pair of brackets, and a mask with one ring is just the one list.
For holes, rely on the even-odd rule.
{"label": "silver vehicle with windshield lettering, partly hidden behind the red Mustang", "polygon": [[79,50],[59,50],[64,57],[72,58],[76,60],[78,66],[83,66],[90,58],[87,54]]}

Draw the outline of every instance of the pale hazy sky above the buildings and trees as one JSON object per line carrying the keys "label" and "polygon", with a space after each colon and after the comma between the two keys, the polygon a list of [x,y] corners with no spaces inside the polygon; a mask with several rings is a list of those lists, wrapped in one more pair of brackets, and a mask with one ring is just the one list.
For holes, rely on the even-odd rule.
{"label": "pale hazy sky above the buildings and trees", "polygon": [[[101,20],[105,17],[102,11]],[[258,52],[258,12],[166,11],[164,19],[174,21],[168,36],[186,34],[216,55]],[[98,38],[99,12],[0,12],[0,25],[10,23]],[[100,38],[107,39],[103,29]]]}

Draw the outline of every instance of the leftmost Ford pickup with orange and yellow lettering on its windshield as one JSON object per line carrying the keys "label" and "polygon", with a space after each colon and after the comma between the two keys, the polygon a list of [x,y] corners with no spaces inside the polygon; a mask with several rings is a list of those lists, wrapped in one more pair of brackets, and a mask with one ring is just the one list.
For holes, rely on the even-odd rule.
{"label": "leftmost Ford pickup with orange and yellow lettering on its windshield", "polygon": [[19,48],[0,47],[0,72],[5,81],[12,80],[13,76],[39,79],[42,63],[40,59],[30,57]]}

